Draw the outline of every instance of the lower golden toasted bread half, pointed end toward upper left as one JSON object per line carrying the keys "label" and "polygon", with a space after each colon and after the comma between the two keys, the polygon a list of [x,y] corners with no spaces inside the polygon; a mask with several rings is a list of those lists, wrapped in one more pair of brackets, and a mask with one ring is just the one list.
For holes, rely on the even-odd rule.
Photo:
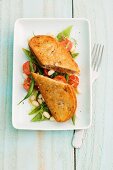
{"label": "lower golden toasted bread half, pointed end toward upper left", "polygon": [[77,107],[73,87],[36,73],[32,73],[32,76],[55,120],[65,122],[70,119]]}

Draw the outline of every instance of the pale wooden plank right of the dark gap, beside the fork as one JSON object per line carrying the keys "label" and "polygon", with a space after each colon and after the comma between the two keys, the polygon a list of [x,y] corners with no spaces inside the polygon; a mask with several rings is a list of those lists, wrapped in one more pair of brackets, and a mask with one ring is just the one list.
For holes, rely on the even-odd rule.
{"label": "pale wooden plank right of the dark gap, beside the fork", "polygon": [[113,2],[104,0],[74,1],[74,16],[91,21],[92,44],[105,45],[101,75],[93,86],[93,123],[86,132],[83,146],[77,150],[77,169],[112,170],[113,158]]}

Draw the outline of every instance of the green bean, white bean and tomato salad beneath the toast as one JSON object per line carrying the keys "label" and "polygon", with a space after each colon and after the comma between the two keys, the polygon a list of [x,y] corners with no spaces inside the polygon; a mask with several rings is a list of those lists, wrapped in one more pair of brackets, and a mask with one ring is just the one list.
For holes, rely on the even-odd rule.
{"label": "green bean, white bean and tomato salad beneath the toast", "polygon": [[[66,50],[71,54],[72,58],[76,59],[79,53],[76,52],[76,40],[70,38],[71,30],[72,26],[67,27],[65,30],[63,30],[56,36],[56,39],[62,46],[66,48]],[[69,85],[73,86],[75,92],[77,92],[80,72],[78,64],[75,62],[78,68],[78,72],[76,72],[75,74],[60,73],[54,70],[42,68],[38,64],[35,56],[30,50],[23,48],[23,52],[28,58],[28,61],[26,61],[22,65],[22,72],[24,77],[23,88],[27,91],[27,94],[24,99],[19,102],[19,104],[30,97],[30,101],[34,106],[34,109],[29,113],[29,115],[35,114],[31,121],[35,122],[43,120],[53,120],[54,118],[52,117],[43,99],[43,96],[39,91],[39,87],[37,86],[32,77],[31,72],[39,73],[62,83],[68,83]],[[72,117],[72,122],[73,124],[75,124],[75,115]]]}

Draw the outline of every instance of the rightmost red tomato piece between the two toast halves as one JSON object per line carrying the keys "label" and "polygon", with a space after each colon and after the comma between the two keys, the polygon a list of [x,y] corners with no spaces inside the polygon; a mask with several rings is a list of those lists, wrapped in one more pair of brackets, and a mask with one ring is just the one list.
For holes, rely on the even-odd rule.
{"label": "rightmost red tomato piece between the two toast halves", "polygon": [[79,85],[79,78],[75,75],[70,75],[68,83],[76,88]]}

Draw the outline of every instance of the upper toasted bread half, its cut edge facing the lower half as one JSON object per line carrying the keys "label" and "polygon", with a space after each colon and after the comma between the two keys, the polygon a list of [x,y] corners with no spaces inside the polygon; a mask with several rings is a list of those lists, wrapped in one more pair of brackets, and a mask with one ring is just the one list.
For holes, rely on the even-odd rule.
{"label": "upper toasted bread half, its cut edge facing the lower half", "polygon": [[79,72],[70,52],[53,37],[34,36],[29,41],[29,47],[42,67],[63,73]]}

